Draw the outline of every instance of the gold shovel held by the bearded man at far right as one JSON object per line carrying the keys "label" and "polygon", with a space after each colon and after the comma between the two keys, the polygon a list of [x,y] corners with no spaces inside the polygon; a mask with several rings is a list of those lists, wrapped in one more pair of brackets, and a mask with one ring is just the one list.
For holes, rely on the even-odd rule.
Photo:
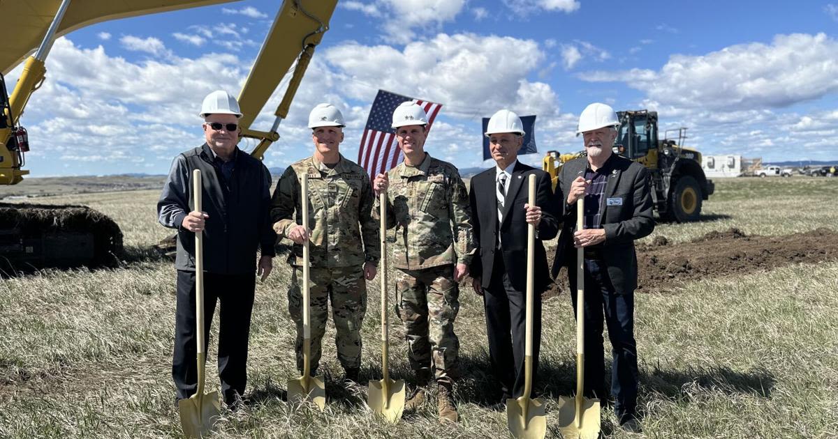
{"label": "gold shovel held by the bearded man at far right", "polygon": [[[585,197],[577,201],[577,230],[585,228]],[[572,242],[572,240],[571,240]],[[577,248],[577,395],[559,396],[559,431],[565,439],[599,436],[599,400],[588,399],[585,385],[585,251]]]}

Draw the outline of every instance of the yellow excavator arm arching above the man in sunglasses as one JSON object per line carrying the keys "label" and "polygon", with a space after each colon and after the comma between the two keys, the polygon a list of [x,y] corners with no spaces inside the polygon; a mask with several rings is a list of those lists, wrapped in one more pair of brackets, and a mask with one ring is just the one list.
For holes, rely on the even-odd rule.
{"label": "yellow excavator arm arching above the man in sunglasses", "polygon": [[[238,0],[0,0],[0,71],[8,73],[36,48],[24,64],[23,72],[10,96],[0,92],[0,185],[23,180],[28,171],[23,153],[27,151],[25,131],[18,121],[29,97],[44,81],[44,60],[55,38],[93,23],[175,9],[195,8]],[[253,155],[260,158],[273,141],[279,139],[277,127],[287,117],[297,86],[303,79],[314,47],[328,30],[337,0],[286,0],[277,13],[271,31],[262,44],[256,63],[239,94],[243,135],[259,140]],[[259,111],[282,77],[297,62],[292,79],[275,112],[271,130],[251,130]],[[0,81],[0,86],[3,86]]]}

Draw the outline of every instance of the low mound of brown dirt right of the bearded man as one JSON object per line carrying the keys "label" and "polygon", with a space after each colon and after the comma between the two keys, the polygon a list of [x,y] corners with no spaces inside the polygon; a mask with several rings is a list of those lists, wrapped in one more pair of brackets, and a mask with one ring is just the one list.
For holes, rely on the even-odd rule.
{"label": "low mound of brown dirt right of the bearded man", "polygon": [[658,290],[698,278],[770,270],[838,258],[838,233],[825,228],[779,237],[732,228],[678,245],[638,246],[638,289]]}

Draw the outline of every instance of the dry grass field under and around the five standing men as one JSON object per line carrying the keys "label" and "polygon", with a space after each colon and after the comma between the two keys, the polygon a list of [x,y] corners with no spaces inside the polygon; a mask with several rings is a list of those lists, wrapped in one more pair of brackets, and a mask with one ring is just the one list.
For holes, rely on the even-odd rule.
{"label": "dry grass field under and around the five standing men", "polygon": [[[821,229],[835,242],[838,179],[737,179],[716,182],[704,217],[659,224],[642,242],[666,237],[691,256],[691,241],[737,227],[779,237]],[[178,437],[170,378],[173,264],[148,252],[168,234],[156,222],[158,191],[68,194],[38,202],[81,203],[122,227],[129,258],[120,268],[44,270],[0,279],[0,437]],[[829,230],[826,230],[829,229]],[[736,245],[732,242],[730,245]],[[816,250],[816,249],[815,249]],[[820,254],[820,253],[819,253]],[[838,260],[650,285],[636,296],[644,436],[654,438],[830,438],[838,435]],[[456,329],[463,379],[456,397],[462,421],[437,424],[436,405],[390,426],[365,408],[366,387],[345,385],[334,328],[323,345],[329,397],[325,412],[285,401],[293,365],[287,311],[290,271],[282,258],[258,283],[251,329],[248,393],[253,403],[223,411],[214,437],[492,437],[508,436],[504,409],[492,406],[482,303],[463,285]],[[565,288],[566,289],[566,288]],[[369,286],[362,379],[380,378],[377,282]],[[541,381],[548,436],[557,437],[558,396],[574,379],[570,299],[544,304]],[[406,375],[405,344],[391,314],[391,366]],[[607,348],[608,349],[608,348]],[[209,358],[214,358],[210,350]],[[209,388],[218,387],[208,362]],[[623,432],[603,411],[607,437]]]}

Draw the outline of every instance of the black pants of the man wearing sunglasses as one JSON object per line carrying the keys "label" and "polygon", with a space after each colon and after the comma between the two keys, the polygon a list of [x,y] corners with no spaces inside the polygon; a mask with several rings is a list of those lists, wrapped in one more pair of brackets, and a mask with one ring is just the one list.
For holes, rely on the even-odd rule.
{"label": "black pants of the man wearing sunglasses", "polygon": [[[247,383],[247,343],[250,338],[255,273],[204,273],[204,352],[209,328],[220,302],[218,375],[227,404],[244,395]],[[178,304],[174,316],[172,378],[178,398],[189,398],[198,387],[195,340],[195,273],[178,270]]]}

